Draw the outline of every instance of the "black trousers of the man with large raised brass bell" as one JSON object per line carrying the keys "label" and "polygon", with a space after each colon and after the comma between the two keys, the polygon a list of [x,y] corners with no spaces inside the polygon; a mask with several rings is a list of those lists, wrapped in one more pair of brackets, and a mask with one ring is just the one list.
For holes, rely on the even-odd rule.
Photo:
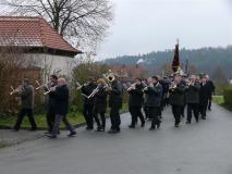
{"label": "black trousers of the man with large raised brass bell", "polygon": [[110,108],[110,121],[111,121],[111,129],[120,130],[121,119],[118,107]]}

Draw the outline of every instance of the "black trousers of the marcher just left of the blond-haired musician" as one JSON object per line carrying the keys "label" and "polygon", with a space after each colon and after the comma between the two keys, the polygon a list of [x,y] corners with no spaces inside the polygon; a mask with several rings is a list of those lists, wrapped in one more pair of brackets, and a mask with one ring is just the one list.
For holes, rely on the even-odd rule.
{"label": "black trousers of the marcher just left of the blond-haired musician", "polygon": [[94,114],[94,104],[84,104],[83,115],[85,117],[87,127],[89,128],[94,127],[93,114]]}

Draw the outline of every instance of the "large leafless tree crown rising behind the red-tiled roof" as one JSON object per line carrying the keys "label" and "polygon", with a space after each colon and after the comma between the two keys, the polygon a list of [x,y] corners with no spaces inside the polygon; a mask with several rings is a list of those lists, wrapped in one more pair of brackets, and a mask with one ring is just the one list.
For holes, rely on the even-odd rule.
{"label": "large leafless tree crown rising behind the red-tiled roof", "polygon": [[[5,0],[9,14],[39,15],[74,47],[96,48],[113,18],[109,0]],[[4,4],[5,4],[4,3]]]}

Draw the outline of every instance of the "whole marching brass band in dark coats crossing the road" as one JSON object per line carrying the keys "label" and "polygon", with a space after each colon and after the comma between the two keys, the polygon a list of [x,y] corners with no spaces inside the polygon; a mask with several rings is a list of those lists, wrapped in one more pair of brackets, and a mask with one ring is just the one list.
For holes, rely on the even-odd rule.
{"label": "whole marching brass band in dark coats crossing the road", "polygon": [[[44,89],[48,96],[47,124],[49,138],[57,138],[60,133],[60,123],[63,122],[70,130],[69,136],[75,136],[76,132],[68,120],[70,90],[64,78],[50,76],[50,82],[44,85],[36,82],[36,90]],[[120,133],[120,109],[122,109],[123,91],[129,94],[129,112],[132,116],[130,128],[135,128],[139,119],[141,126],[145,126],[145,120],[151,121],[149,130],[160,127],[161,112],[168,104],[174,117],[174,126],[179,127],[184,117],[185,105],[187,108],[186,124],[191,124],[192,114],[198,123],[199,115],[206,120],[207,110],[211,110],[211,98],[215,85],[209,76],[202,74],[199,78],[191,75],[190,78],[174,73],[173,76],[161,78],[160,76],[148,77],[147,79],[136,78],[134,82],[121,83],[117,74],[103,74],[102,78],[95,82],[89,77],[87,83],[76,83],[76,89],[84,96],[83,115],[86,121],[86,129],[94,129],[94,120],[97,124],[96,132],[106,129],[106,111],[110,109],[111,128],[109,134]],[[19,130],[24,115],[28,116],[32,129],[36,130],[37,125],[33,115],[34,111],[34,87],[25,78],[23,85],[14,89],[10,95],[19,95],[22,100],[21,112],[14,125]],[[109,99],[108,99],[109,96]],[[143,110],[142,110],[143,109]],[[143,112],[144,111],[144,112]],[[144,116],[145,113],[145,116]]]}

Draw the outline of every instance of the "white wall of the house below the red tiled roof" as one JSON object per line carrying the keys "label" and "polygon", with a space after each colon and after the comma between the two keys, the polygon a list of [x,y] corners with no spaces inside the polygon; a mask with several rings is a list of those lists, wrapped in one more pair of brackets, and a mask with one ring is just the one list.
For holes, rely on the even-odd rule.
{"label": "white wall of the house below the red tiled roof", "polygon": [[59,75],[71,77],[74,59],[70,57],[51,55],[46,53],[25,53],[25,65],[38,66],[44,77],[59,71]]}

